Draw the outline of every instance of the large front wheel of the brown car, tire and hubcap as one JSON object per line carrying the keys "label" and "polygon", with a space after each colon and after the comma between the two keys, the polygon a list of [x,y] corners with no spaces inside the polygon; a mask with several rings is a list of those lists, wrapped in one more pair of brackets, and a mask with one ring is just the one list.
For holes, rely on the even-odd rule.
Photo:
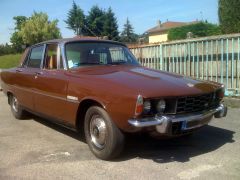
{"label": "large front wheel of the brown car, tire and hubcap", "polygon": [[85,115],[84,133],[92,153],[99,159],[116,158],[124,147],[124,134],[101,107],[90,107]]}

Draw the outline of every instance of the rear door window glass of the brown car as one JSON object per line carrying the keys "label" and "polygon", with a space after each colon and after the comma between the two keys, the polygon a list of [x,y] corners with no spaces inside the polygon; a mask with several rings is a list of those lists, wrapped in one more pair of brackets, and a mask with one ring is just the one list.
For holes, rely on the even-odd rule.
{"label": "rear door window glass of the brown car", "polygon": [[31,54],[28,59],[27,67],[40,68],[43,50],[43,45],[32,48]]}

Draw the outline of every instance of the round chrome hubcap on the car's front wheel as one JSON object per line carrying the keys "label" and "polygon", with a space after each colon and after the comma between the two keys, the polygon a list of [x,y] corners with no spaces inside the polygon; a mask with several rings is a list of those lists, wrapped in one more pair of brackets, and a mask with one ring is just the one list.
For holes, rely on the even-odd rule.
{"label": "round chrome hubcap on the car's front wheel", "polygon": [[103,149],[106,143],[106,123],[99,115],[93,115],[90,121],[90,136],[92,143],[99,149]]}

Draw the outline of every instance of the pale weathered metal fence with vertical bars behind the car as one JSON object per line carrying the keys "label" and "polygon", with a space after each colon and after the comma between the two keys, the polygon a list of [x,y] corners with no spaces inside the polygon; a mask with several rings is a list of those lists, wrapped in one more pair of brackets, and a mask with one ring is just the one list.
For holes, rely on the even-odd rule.
{"label": "pale weathered metal fence with vertical bars behind the car", "polygon": [[240,34],[130,47],[146,67],[223,83],[240,96]]}

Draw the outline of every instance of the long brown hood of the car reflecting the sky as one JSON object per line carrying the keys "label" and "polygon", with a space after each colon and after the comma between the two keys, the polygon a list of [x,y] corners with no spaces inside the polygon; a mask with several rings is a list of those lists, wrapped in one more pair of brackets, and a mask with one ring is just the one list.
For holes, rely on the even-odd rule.
{"label": "long brown hood of the car reflecting the sky", "polygon": [[[220,84],[158,71],[142,66],[96,66],[84,67],[70,72],[74,76],[96,82],[99,88],[111,88],[141,94],[144,97],[186,96],[209,93]],[[109,90],[111,90],[109,89]]]}

